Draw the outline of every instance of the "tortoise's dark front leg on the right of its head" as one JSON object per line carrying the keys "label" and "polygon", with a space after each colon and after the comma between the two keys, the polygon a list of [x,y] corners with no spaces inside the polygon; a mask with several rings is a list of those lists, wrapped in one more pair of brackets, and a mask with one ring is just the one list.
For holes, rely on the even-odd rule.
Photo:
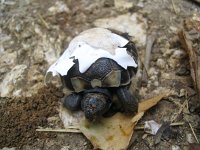
{"label": "tortoise's dark front leg on the right of its head", "polygon": [[138,100],[131,95],[127,86],[117,88],[117,97],[125,113],[134,114],[138,110]]}

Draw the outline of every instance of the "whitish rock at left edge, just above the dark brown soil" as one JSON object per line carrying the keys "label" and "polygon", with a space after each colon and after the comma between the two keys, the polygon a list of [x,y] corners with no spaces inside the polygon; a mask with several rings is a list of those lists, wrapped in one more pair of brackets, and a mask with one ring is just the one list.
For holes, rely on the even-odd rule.
{"label": "whitish rock at left edge, just above the dark brown soil", "polygon": [[3,82],[0,84],[0,95],[1,97],[15,96],[20,94],[20,88],[23,87],[23,80],[27,73],[26,65],[15,66],[7,75],[4,77]]}

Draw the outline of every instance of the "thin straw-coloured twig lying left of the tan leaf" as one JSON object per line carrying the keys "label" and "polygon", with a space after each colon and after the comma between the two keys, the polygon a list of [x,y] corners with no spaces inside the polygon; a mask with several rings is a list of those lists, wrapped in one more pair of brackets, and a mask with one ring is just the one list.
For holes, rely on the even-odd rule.
{"label": "thin straw-coloured twig lying left of the tan leaf", "polygon": [[79,129],[75,128],[68,128],[68,129],[51,129],[51,128],[46,128],[46,129],[36,129],[38,132],[61,132],[61,133],[66,133],[66,132],[72,132],[72,133],[81,133]]}

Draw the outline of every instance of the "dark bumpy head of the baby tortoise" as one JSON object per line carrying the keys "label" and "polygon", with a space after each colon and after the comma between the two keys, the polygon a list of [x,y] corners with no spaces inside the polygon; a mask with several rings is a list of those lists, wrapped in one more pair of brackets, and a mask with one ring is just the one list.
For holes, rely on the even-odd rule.
{"label": "dark bumpy head of the baby tortoise", "polygon": [[109,110],[110,106],[108,96],[102,93],[86,93],[81,102],[85,117],[90,121],[96,121]]}

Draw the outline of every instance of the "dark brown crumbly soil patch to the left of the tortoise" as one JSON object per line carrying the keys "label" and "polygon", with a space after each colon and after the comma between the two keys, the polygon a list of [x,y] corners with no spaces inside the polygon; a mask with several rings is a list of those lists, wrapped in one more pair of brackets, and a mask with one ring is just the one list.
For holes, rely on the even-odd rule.
{"label": "dark brown crumbly soil patch to the left of the tortoise", "polygon": [[[49,133],[36,132],[38,127],[47,127],[48,118],[58,114],[56,88],[41,88],[32,97],[5,99],[0,107],[0,143],[7,147],[21,147],[37,138],[55,137]],[[3,99],[2,99],[3,101]]]}

